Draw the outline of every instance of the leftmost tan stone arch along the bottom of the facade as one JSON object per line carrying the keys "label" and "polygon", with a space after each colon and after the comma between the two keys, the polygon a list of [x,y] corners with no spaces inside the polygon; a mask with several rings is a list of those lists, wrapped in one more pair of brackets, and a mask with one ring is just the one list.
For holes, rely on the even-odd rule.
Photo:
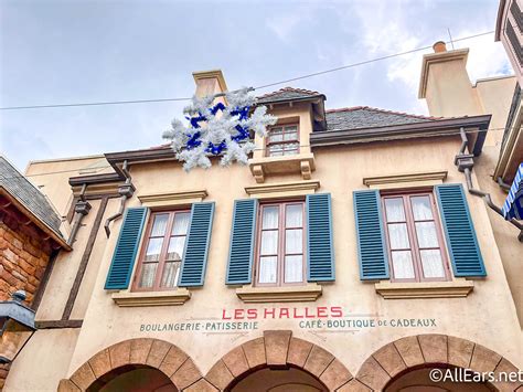
{"label": "leftmost tan stone arch along the bottom of the facade", "polygon": [[58,392],[86,391],[104,375],[129,365],[159,370],[179,391],[203,390],[198,385],[205,383],[191,357],[177,346],[164,340],[138,338],[120,341],[94,354],[71,378],[61,380]]}

